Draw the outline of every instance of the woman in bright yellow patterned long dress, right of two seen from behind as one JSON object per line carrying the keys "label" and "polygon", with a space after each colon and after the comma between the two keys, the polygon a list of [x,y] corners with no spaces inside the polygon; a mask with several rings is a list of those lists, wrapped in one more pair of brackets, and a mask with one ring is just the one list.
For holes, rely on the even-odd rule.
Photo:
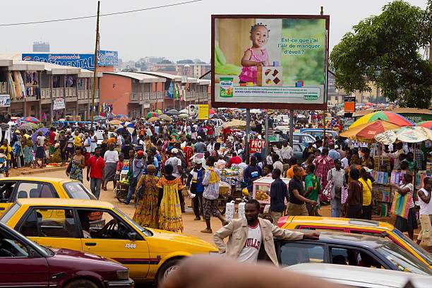
{"label": "woman in bright yellow patterned long dress, right of two seen from behind", "polygon": [[184,185],[181,183],[180,178],[172,175],[173,167],[171,164],[165,165],[164,170],[164,176],[157,182],[157,187],[159,187],[159,197],[157,200],[157,206],[159,207],[159,229],[183,232],[179,190]]}

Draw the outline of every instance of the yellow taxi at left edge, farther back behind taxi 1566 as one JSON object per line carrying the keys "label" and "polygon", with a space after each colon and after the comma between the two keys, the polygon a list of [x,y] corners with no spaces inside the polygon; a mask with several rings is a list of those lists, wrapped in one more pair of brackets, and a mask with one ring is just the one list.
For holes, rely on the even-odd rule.
{"label": "yellow taxi at left edge, farther back behind taxi 1566", "polygon": [[80,182],[49,177],[6,177],[0,179],[0,215],[21,198],[96,199]]}

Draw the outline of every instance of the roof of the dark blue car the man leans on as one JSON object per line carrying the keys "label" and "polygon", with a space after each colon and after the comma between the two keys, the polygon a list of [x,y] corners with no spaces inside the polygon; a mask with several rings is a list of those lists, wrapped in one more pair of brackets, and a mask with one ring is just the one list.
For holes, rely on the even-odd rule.
{"label": "roof of the dark blue car the man leans on", "polygon": [[[299,232],[310,232],[310,230],[297,230]],[[309,241],[309,240],[305,240]],[[362,246],[368,248],[377,248],[392,241],[378,236],[369,236],[364,234],[320,231],[320,239],[316,240],[328,244]]]}

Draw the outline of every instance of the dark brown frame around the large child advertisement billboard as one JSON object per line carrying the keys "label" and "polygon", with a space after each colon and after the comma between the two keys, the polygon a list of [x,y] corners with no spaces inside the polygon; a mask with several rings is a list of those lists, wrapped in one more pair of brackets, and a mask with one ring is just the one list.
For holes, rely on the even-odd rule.
{"label": "dark brown frame around the large child advertisement billboard", "polygon": [[[324,102],[323,104],[291,104],[291,103],[244,103],[244,102],[215,102],[215,20],[217,18],[260,18],[260,19],[323,19],[325,20],[325,64],[324,64]],[[327,110],[328,103],[328,51],[329,51],[329,32],[330,32],[330,15],[270,15],[270,14],[212,14],[211,16],[211,96],[212,107],[215,108],[246,108],[246,109],[300,109],[300,110]]]}

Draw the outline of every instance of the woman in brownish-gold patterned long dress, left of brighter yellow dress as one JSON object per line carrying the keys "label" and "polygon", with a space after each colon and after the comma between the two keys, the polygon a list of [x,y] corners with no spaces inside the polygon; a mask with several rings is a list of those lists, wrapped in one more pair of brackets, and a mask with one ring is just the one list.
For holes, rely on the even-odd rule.
{"label": "woman in brownish-gold patterned long dress, left of brighter yellow dress", "polygon": [[138,200],[138,205],[133,215],[133,221],[143,227],[157,229],[157,198],[159,197],[159,188],[157,181],[159,177],[155,176],[156,167],[153,164],[147,166],[147,175],[141,176],[136,191],[144,185],[143,198]]}

